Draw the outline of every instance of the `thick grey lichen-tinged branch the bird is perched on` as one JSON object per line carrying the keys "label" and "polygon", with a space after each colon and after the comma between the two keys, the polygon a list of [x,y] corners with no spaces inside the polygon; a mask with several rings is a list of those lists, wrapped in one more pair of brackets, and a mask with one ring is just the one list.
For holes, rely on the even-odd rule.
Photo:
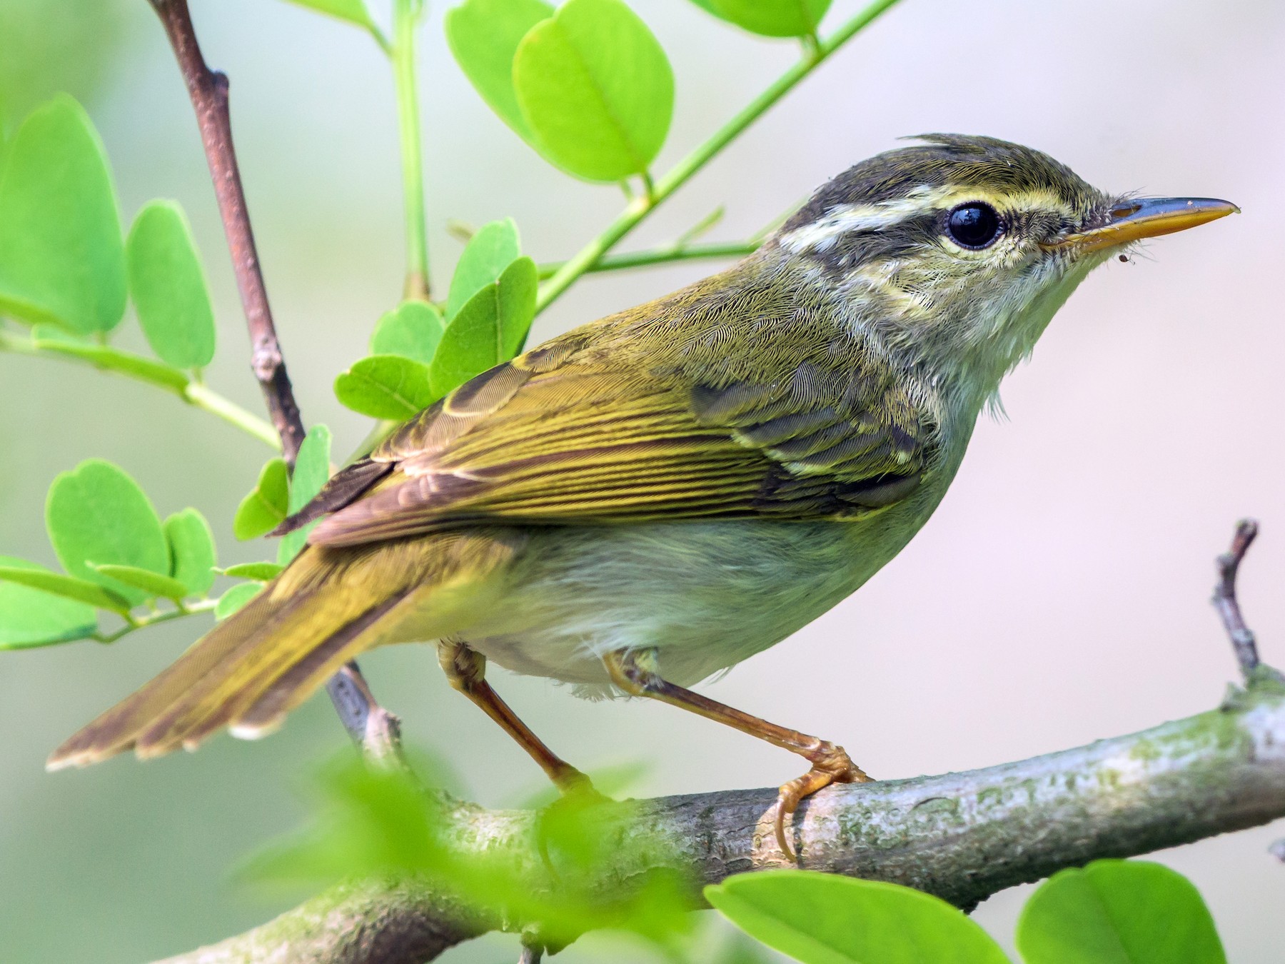
{"label": "thick grey lichen-tinged branch the bird is perched on", "polygon": [[[714,883],[786,865],[772,842],[775,798],[767,788],[604,806],[621,841],[601,888],[628,888],[658,868]],[[1285,686],[1261,666],[1217,710],[1142,733],[984,770],[829,788],[801,808],[794,843],[804,868],[907,884],[968,909],[1065,866],[1281,816]],[[540,877],[533,812],[455,803],[445,819],[461,853],[511,853],[520,873]],[[636,839],[646,843],[630,846]],[[168,964],[420,964],[523,923],[465,914],[427,884],[364,883]]]}

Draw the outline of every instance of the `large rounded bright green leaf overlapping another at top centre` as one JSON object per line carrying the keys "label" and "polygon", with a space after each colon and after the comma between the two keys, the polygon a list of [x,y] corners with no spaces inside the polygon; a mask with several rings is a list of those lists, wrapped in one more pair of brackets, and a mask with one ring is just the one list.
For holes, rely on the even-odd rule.
{"label": "large rounded bright green leaf overlapping another at top centre", "polygon": [[646,171],[673,114],[673,71],[622,0],[567,0],[518,46],[513,84],[545,153],[577,177]]}

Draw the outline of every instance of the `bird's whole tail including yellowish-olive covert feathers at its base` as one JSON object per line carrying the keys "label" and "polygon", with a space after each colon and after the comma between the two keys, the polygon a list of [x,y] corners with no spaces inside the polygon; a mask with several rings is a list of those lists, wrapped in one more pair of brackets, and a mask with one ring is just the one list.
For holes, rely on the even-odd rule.
{"label": "bird's whole tail including yellowish-olive covert feathers at its base", "polygon": [[496,591],[490,576],[523,542],[520,533],[495,531],[310,546],[173,666],[54,751],[48,767],[86,766],[131,748],[140,757],[194,749],[224,726],[263,735],[359,653],[459,631]]}

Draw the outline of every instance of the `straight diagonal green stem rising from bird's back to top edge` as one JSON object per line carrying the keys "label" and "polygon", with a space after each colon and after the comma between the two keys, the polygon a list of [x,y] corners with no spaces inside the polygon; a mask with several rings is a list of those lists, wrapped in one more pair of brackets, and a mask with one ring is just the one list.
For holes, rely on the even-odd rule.
{"label": "straight diagonal green stem rising from bird's back to top edge", "polygon": [[740,113],[714,131],[704,144],[675,165],[655,183],[655,190],[649,197],[639,197],[631,201],[625,211],[601,234],[581,248],[569,261],[565,261],[558,272],[541,285],[540,294],[536,298],[536,311],[544,311],[553,305],[558,296],[565,292],[577,278],[598,263],[608,251],[626,234],[632,231],[642,219],[659,207],[673,192],[691,180],[693,175],[709,163],[741,131],[785,96],[801,80],[807,77],[819,64],[829,58],[830,54],[852,40],[866,24],[896,3],[897,0],[874,0],[874,3],[857,13],[834,33],[820,41],[815,53],[804,55],[803,59],[777,77],[767,90],[754,98]]}

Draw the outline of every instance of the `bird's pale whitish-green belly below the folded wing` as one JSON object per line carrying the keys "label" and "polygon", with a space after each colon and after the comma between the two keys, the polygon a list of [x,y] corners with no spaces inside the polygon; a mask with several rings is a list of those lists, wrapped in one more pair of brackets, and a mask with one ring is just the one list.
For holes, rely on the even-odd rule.
{"label": "bird's pale whitish-green belly below the folded wing", "polygon": [[459,636],[505,668],[586,684],[586,694],[607,692],[600,657],[616,649],[654,647],[660,674],[691,685],[856,591],[939,497],[920,491],[861,522],[529,530],[505,575],[502,604],[477,613]]}

